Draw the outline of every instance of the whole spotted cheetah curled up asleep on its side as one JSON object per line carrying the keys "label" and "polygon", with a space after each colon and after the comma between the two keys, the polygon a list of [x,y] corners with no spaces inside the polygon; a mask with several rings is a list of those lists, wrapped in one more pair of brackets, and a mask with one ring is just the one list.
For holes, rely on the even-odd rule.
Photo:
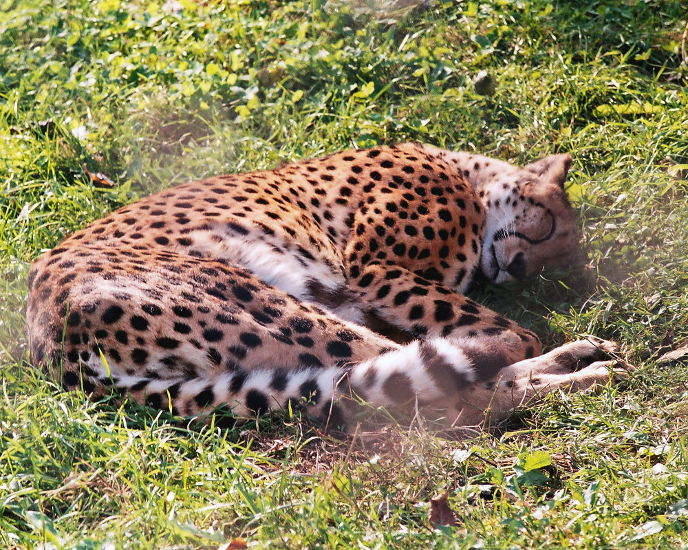
{"label": "whole spotted cheetah curled up asleep on its side", "polygon": [[[569,155],[517,168],[402,144],[180,185],[120,208],[32,266],[32,360],[93,398],[175,415],[361,401],[481,423],[605,382],[610,342],[539,355],[462,293],[566,263]],[[414,340],[367,328],[373,314]],[[354,398],[354,399],[352,399]]]}

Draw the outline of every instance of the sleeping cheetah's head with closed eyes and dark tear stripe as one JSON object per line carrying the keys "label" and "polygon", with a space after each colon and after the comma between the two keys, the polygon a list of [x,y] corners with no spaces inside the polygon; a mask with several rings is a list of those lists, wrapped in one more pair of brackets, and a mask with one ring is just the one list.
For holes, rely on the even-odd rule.
{"label": "sleeping cheetah's head with closed eyes and dark tear stripe", "polygon": [[490,281],[520,281],[576,254],[577,221],[563,189],[570,166],[570,155],[552,155],[483,171],[476,186],[486,208],[480,267]]}

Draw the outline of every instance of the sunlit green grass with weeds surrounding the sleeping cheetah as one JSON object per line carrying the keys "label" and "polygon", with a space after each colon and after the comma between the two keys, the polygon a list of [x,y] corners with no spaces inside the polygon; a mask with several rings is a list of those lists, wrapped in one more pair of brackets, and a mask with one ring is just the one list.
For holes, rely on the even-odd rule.
{"label": "sunlit green grass with weeds surrounding the sleeping cheetah", "polygon": [[[688,340],[685,7],[180,2],[0,0],[0,545],[688,548],[688,369],[658,360]],[[28,266],[69,232],[186,179],[405,140],[572,153],[588,259],[471,294],[548,346],[617,340],[641,367],[625,388],[466,439],[335,441],[288,418],[184,428],[30,366]],[[458,524],[433,529],[445,491]]]}

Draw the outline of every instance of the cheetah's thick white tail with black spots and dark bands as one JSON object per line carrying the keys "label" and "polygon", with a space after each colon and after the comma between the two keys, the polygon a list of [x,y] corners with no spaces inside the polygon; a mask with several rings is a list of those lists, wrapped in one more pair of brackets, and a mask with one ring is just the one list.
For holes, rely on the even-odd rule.
{"label": "cheetah's thick white tail with black spots and dark bands", "polygon": [[426,404],[455,397],[475,380],[473,366],[461,350],[436,338],[416,340],[345,367],[295,366],[288,376],[280,377],[279,369],[255,368],[193,380],[120,375],[114,384],[136,401],[185,416],[224,409],[234,416],[255,417],[304,406],[308,415],[325,420],[333,416],[338,423],[345,419],[341,405],[348,412],[360,410],[363,399],[373,408],[403,409],[416,399]]}

